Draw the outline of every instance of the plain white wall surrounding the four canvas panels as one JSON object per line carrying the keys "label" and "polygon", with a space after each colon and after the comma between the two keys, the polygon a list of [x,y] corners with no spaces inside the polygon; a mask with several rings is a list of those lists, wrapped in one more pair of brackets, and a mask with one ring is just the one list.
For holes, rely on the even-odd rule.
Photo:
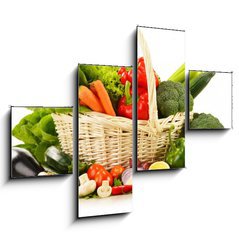
{"label": "plain white wall surrounding the four canvas panels", "polygon": [[[238,239],[237,9],[230,0],[1,1],[1,238]],[[234,71],[234,129],[188,132],[182,171],[135,174],[133,213],[76,221],[72,176],[8,180],[9,105],[72,105],[76,64],[132,64],[136,24],[186,29],[189,69]]]}

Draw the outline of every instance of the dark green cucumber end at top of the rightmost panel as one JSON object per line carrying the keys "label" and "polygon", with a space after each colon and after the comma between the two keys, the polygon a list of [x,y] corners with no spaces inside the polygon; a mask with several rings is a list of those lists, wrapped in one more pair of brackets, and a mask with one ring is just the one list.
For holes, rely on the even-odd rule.
{"label": "dark green cucumber end at top of the rightmost panel", "polygon": [[215,72],[203,72],[197,77],[189,80],[189,89],[193,98],[197,97],[197,95],[207,86],[215,74]]}

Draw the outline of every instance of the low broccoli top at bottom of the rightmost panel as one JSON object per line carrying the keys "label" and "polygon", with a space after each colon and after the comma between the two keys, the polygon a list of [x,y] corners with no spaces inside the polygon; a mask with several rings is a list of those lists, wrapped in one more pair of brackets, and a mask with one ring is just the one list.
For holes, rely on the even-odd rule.
{"label": "low broccoli top at bottom of the rightmost panel", "polygon": [[222,129],[224,126],[219,119],[212,114],[195,113],[193,120],[190,122],[190,129]]}

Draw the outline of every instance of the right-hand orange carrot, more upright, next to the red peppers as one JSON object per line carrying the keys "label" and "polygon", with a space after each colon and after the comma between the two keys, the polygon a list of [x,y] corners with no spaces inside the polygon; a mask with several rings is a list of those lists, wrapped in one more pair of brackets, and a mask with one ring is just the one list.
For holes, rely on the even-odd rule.
{"label": "right-hand orange carrot, more upright, next to the red peppers", "polygon": [[90,84],[90,89],[93,93],[96,93],[100,99],[105,113],[111,116],[116,116],[109,94],[107,93],[104,84],[100,80],[96,80]]}

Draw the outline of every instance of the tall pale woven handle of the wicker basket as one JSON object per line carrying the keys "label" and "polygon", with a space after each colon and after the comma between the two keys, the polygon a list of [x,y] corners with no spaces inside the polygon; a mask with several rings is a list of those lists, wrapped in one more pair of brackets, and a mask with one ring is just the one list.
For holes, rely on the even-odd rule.
{"label": "tall pale woven handle of the wicker basket", "polygon": [[161,127],[159,126],[159,123],[158,123],[158,109],[157,109],[157,101],[156,101],[156,84],[155,84],[154,70],[151,62],[148,44],[144,38],[143,33],[140,30],[138,30],[138,40],[143,52],[145,68],[146,68],[147,85],[148,85],[149,123],[152,127],[156,127],[157,130],[160,130]]}

